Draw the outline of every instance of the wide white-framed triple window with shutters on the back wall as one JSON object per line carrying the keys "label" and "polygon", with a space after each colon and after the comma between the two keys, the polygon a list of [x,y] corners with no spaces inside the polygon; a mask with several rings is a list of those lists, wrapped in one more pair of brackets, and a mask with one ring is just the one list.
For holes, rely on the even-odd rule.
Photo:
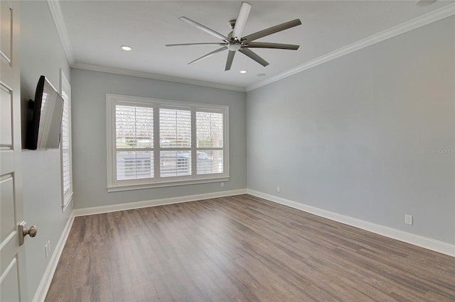
{"label": "wide white-framed triple window with shutters on the back wall", "polygon": [[228,107],[106,95],[107,189],[228,180]]}

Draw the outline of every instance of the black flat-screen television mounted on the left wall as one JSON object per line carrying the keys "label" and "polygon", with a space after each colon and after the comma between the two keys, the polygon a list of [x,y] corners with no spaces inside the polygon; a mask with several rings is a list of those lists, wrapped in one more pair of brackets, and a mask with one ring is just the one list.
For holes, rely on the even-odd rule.
{"label": "black flat-screen television mounted on the left wall", "polygon": [[26,148],[58,148],[62,116],[62,97],[48,79],[41,76],[36,85],[35,100],[28,101]]}

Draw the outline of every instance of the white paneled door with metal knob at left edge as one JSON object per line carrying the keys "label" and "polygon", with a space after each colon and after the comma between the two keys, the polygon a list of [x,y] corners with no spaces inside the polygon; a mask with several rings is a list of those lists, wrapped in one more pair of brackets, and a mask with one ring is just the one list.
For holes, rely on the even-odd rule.
{"label": "white paneled door with metal knob at left edge", "polygon": [[[0,301],[26,301],[22,222],[19,1],[0,1]],[[22,281],[21,281],[22,280]]]}

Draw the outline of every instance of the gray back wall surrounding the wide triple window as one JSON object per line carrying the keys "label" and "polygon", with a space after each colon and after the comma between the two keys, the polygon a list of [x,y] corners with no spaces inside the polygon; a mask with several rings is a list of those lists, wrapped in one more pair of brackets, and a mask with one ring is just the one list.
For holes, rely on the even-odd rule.
{"label": "gray back wall surrounding the wide triple window", "polygon": [[[71,84],[75,208],[246,189],[245,92],[74,68]],[[210,183],[107,193],[106,94],[229,106],[230,180],[225,187]]]}

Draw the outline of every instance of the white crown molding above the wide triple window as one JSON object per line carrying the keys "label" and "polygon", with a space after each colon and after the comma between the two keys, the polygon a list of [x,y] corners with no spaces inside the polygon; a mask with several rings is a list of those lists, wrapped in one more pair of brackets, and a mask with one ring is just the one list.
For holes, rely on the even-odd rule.
{"label": "white crown molding above the wide triple window", "polygon": [[137,70],[131,70],[131,69],[122,69],[122,68],[116,68],[116,67],[85,64],[85,63],[80,63],[80,62],[76,62],[75,64],[71,65],[71,67],[77,68],[77,69],[92,70],[94,72],[107,72],[110,74],[122,74],[122,75],[131,76],[131,77],[142,77],[145,79],[158,79],[158,80],[166,81],[166,82],[176,82],[176,83],[181,83],[181,84],[191,84],[191,85],[205,86],[205,87],[211,87],[211,88],[217,88],[217,89],[226,89],[226,90],[245,92],[245,87],[230,86],[230,85],[213,83],[213,82],[205,82],[205,81],[200,81],[197,79],[187,79],[187,78],[183,78],[183,77],[172,77],[172,76],[168,76],[168,75],[164,75],[164,74],[153,74],[151,72],[139,72]]}

